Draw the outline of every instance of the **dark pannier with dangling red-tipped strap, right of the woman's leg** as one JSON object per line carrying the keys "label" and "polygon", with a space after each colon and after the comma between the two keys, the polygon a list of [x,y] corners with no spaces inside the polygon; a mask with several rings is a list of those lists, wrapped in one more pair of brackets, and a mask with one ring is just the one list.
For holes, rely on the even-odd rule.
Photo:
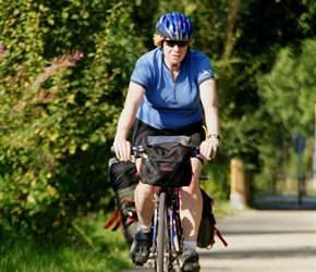
{"label": "dark pannier with dangling red-tipped strap, right of the woman's leg", "polygon": [[215,234],[217,234],[224,246],[228,246],[227,242],[215,226],[216,220],[212,213],[214,200],[203,189],[200,189],[200,193],[203,197],[203,212],[196,240],[197,247],[210,249],[215,244]]}

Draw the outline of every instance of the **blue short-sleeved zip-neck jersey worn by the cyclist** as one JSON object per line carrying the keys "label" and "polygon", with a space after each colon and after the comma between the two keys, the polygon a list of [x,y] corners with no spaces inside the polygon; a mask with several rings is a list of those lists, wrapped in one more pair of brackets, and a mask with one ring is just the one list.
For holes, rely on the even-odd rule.
{"label": "blue short-sleeved zip-neck jersey worn by the cyclist", "polygon": [[136,118],[156,128],[180,128],[203,119],[198,85],[214,78],[210,60],[192,49],[175,79],[163,63],[161,48],[142,55],[131,81],[146,89]]}

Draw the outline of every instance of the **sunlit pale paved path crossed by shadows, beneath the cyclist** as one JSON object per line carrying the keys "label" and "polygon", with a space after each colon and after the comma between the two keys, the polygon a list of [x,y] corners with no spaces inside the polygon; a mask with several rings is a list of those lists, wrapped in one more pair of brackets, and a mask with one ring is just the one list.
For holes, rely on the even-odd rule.
{"label": "sunlit pale paved path crossed by shadows, beneath the cyclist", "polygon": [[199,249],[200,272],[316,272],[315,210],[248,211],[217,227],[229,246]]}

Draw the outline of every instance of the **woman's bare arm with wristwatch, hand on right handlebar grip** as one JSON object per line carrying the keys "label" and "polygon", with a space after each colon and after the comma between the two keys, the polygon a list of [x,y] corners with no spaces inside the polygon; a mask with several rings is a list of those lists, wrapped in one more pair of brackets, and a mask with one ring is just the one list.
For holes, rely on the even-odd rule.
{"label": "woman's bare arm with wristwatch, hand on right handlebar grip", "polygon": [[204,116],[207,128],[207,139],[200,144],[202,159],[211,160],[217,153],[220,139],[219,116],[217,109],[217,90],[215,79],[207,79],[199,85],[199,97],[204,108]]}

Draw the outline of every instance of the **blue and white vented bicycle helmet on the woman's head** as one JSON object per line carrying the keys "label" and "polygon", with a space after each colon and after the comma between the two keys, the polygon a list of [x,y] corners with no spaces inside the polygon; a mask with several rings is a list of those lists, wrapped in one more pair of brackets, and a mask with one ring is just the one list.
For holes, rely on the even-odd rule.
{"label": "blue and white vented bicycle helmet on the woman's head", "polygon": [[179,12],[167,13],[156,24],[156,33],[170,40],[191,40],[193,25],[189,17]]}

